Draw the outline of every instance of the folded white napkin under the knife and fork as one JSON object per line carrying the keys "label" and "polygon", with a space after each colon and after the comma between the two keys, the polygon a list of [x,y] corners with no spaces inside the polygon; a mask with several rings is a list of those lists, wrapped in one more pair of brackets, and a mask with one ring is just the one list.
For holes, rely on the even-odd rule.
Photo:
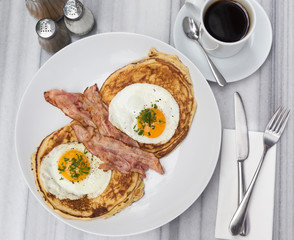
{"label": "folded white napkin under the knife and fork", "polygon": [[[249,156],[244,162],[246,188],[263,152],[263,133],[249,132]],[[271,240],[274,213],[276,146],[265,158],[251,195],[248,216],[249,234],[232,236],[230,221],[238,206],[238,168],[235,130],[224,129],[221,151],[218,207],[215,237],[218,239]]]}

